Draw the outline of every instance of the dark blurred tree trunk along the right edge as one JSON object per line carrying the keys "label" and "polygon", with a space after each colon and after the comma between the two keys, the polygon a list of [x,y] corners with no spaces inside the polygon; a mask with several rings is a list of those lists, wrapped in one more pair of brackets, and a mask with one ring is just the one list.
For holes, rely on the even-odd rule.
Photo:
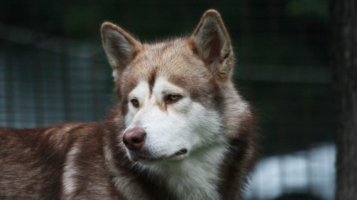
{"label": "dark blurred tree trunk along the right edge", "polygon": [[332,0],[332,66],[336,103],[336,199],[357,199],[357,2]]}

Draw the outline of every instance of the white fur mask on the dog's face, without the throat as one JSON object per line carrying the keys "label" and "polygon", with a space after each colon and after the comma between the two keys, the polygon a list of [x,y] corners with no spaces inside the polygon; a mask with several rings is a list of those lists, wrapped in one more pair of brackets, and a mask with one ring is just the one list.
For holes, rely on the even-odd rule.
{"label": "white fur mask on the dog's face, without the throat", "polygon": [[[181,95],[177,102],[167,104],[165,96]],[[131,105],[131,98],[139,100],[140,107]],[[191,151],[204,145],[216,143],[221,121],[218,112],[198,102],[193,102],[188,91],[170,83],[165,78],[156,78],[152,94],[148,83],[141,81],[129,93],[129,112],[126,114],[126,130],[140,127],[146,131],[142,147],[151,157],[172,157],[181,149]],[[163,109],[165,107],[165,109]],[[129,152],[129,158],[135,152]],[[178,158],[184,157],[180,155]]]}

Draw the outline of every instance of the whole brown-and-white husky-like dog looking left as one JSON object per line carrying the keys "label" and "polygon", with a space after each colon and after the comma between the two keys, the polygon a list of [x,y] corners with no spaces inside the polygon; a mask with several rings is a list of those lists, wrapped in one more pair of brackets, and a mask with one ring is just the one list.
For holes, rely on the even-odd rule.
{"label": "whole brown-and-white husky-like dog looking left", "polygon": [[242,199],[257,154],[233,48],[208,10],[191,36],[101,26],[116,105],[101,122],[0,128],[0,199]]}

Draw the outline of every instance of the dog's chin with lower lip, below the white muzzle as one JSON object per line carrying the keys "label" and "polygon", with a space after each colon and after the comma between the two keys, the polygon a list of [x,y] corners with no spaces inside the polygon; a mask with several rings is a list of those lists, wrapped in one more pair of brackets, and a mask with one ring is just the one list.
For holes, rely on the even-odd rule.
{"label": "dog's chin with lower lip, below the white muzzle", "polygon": [[143,164],[155,164],[156,162],[170,162],[184,159],[188,156],[187,149],[180,149],[174,154],[152,154],[146,151],[130,151],[126,149],[129,159],[133,162],[141,162]]}

